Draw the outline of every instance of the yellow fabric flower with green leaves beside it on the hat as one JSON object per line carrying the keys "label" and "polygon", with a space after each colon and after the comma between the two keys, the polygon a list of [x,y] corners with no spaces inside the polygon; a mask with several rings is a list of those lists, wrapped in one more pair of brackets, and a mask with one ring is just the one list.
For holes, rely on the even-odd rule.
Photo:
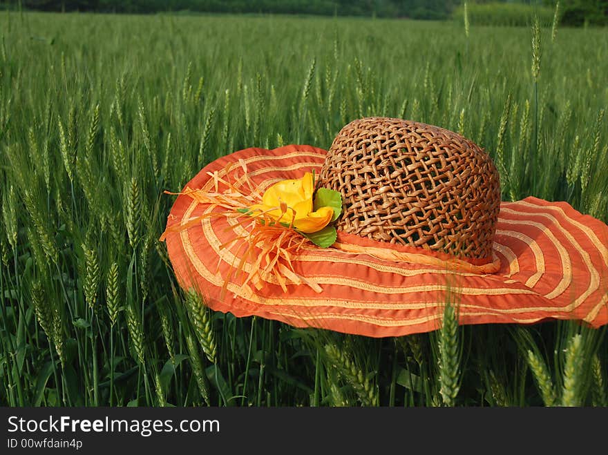
{"label": "yellow fabric flower with green leaves beside it on the hat", "polygon": [[277,182],[265,191],[262,204],[254,204],[249,210],[263,212],[277,222],[293,224],[303,233],[321,231],[332,220],[334,210],[321,207],[312,211],[313,184],[310,172],[301,179]]}

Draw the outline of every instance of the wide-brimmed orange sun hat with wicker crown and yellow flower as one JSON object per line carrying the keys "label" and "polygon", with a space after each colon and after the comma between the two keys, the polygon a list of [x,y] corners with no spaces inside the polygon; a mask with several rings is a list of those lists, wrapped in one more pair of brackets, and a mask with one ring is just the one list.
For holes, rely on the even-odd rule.
{"label": "wide-brimmed orange sun hat with wicker crown and yellow flower", "polygon": [[608,322],[608,226],[566,202],[501,202],[482,148],[401,119],[351,122],[329,151],[216,159],[162,239],[180,286],[238,317],[373,337],[435,330],[447,303],[460,324]]}

